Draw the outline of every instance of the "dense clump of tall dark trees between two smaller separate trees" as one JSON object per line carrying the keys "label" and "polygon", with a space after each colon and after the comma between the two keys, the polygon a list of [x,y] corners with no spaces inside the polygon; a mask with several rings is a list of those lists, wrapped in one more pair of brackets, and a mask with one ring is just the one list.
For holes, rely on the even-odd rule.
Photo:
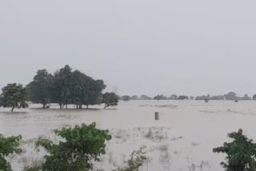
{"label": "dense clump of tall dark trees between two smaller separate trees", "polygon": [[102,90],[106,85],[102,80],[94,80],[79,70],[73,71],[70,66],[64,66],[54,75],[38,70],[27,87],[31,101],[42,103],[43,107],[47,103],[58,103],[61,109],[68,105],[82,109],[82,105],[88,108],[102,103]]}

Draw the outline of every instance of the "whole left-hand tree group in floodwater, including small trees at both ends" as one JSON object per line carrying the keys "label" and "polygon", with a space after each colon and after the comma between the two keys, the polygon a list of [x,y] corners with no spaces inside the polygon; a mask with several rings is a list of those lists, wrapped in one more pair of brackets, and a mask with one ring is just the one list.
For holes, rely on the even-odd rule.
{"label": "whole left-hand tree group in floodwater, including small trees at both ends", "polygon": [[47,70],[38,70],[33,81],[26,87],[20,84],[8,84],[2,89],[0,106],[12,108],[28,107],[26,101],[42,104],[43,108],[50,107],[50,103],[58,103],[60,109],[74,105],[82,109],[82,105],[105,103],[105,108],[118,105],[118,95],[103,94],[106,85],[102,80],[94,80],[79,70],[72,70],[64,66],[54,74]]}

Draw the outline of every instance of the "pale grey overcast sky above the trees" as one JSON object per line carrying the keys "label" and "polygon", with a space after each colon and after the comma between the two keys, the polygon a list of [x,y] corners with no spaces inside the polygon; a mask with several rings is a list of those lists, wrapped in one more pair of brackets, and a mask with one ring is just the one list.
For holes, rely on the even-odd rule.
{"label": "pale grey overcast sky above the trees", "polygon": [[0,0],[0,87],[69,64],[121,94],[253,94],[255,6],[255,0]]}

